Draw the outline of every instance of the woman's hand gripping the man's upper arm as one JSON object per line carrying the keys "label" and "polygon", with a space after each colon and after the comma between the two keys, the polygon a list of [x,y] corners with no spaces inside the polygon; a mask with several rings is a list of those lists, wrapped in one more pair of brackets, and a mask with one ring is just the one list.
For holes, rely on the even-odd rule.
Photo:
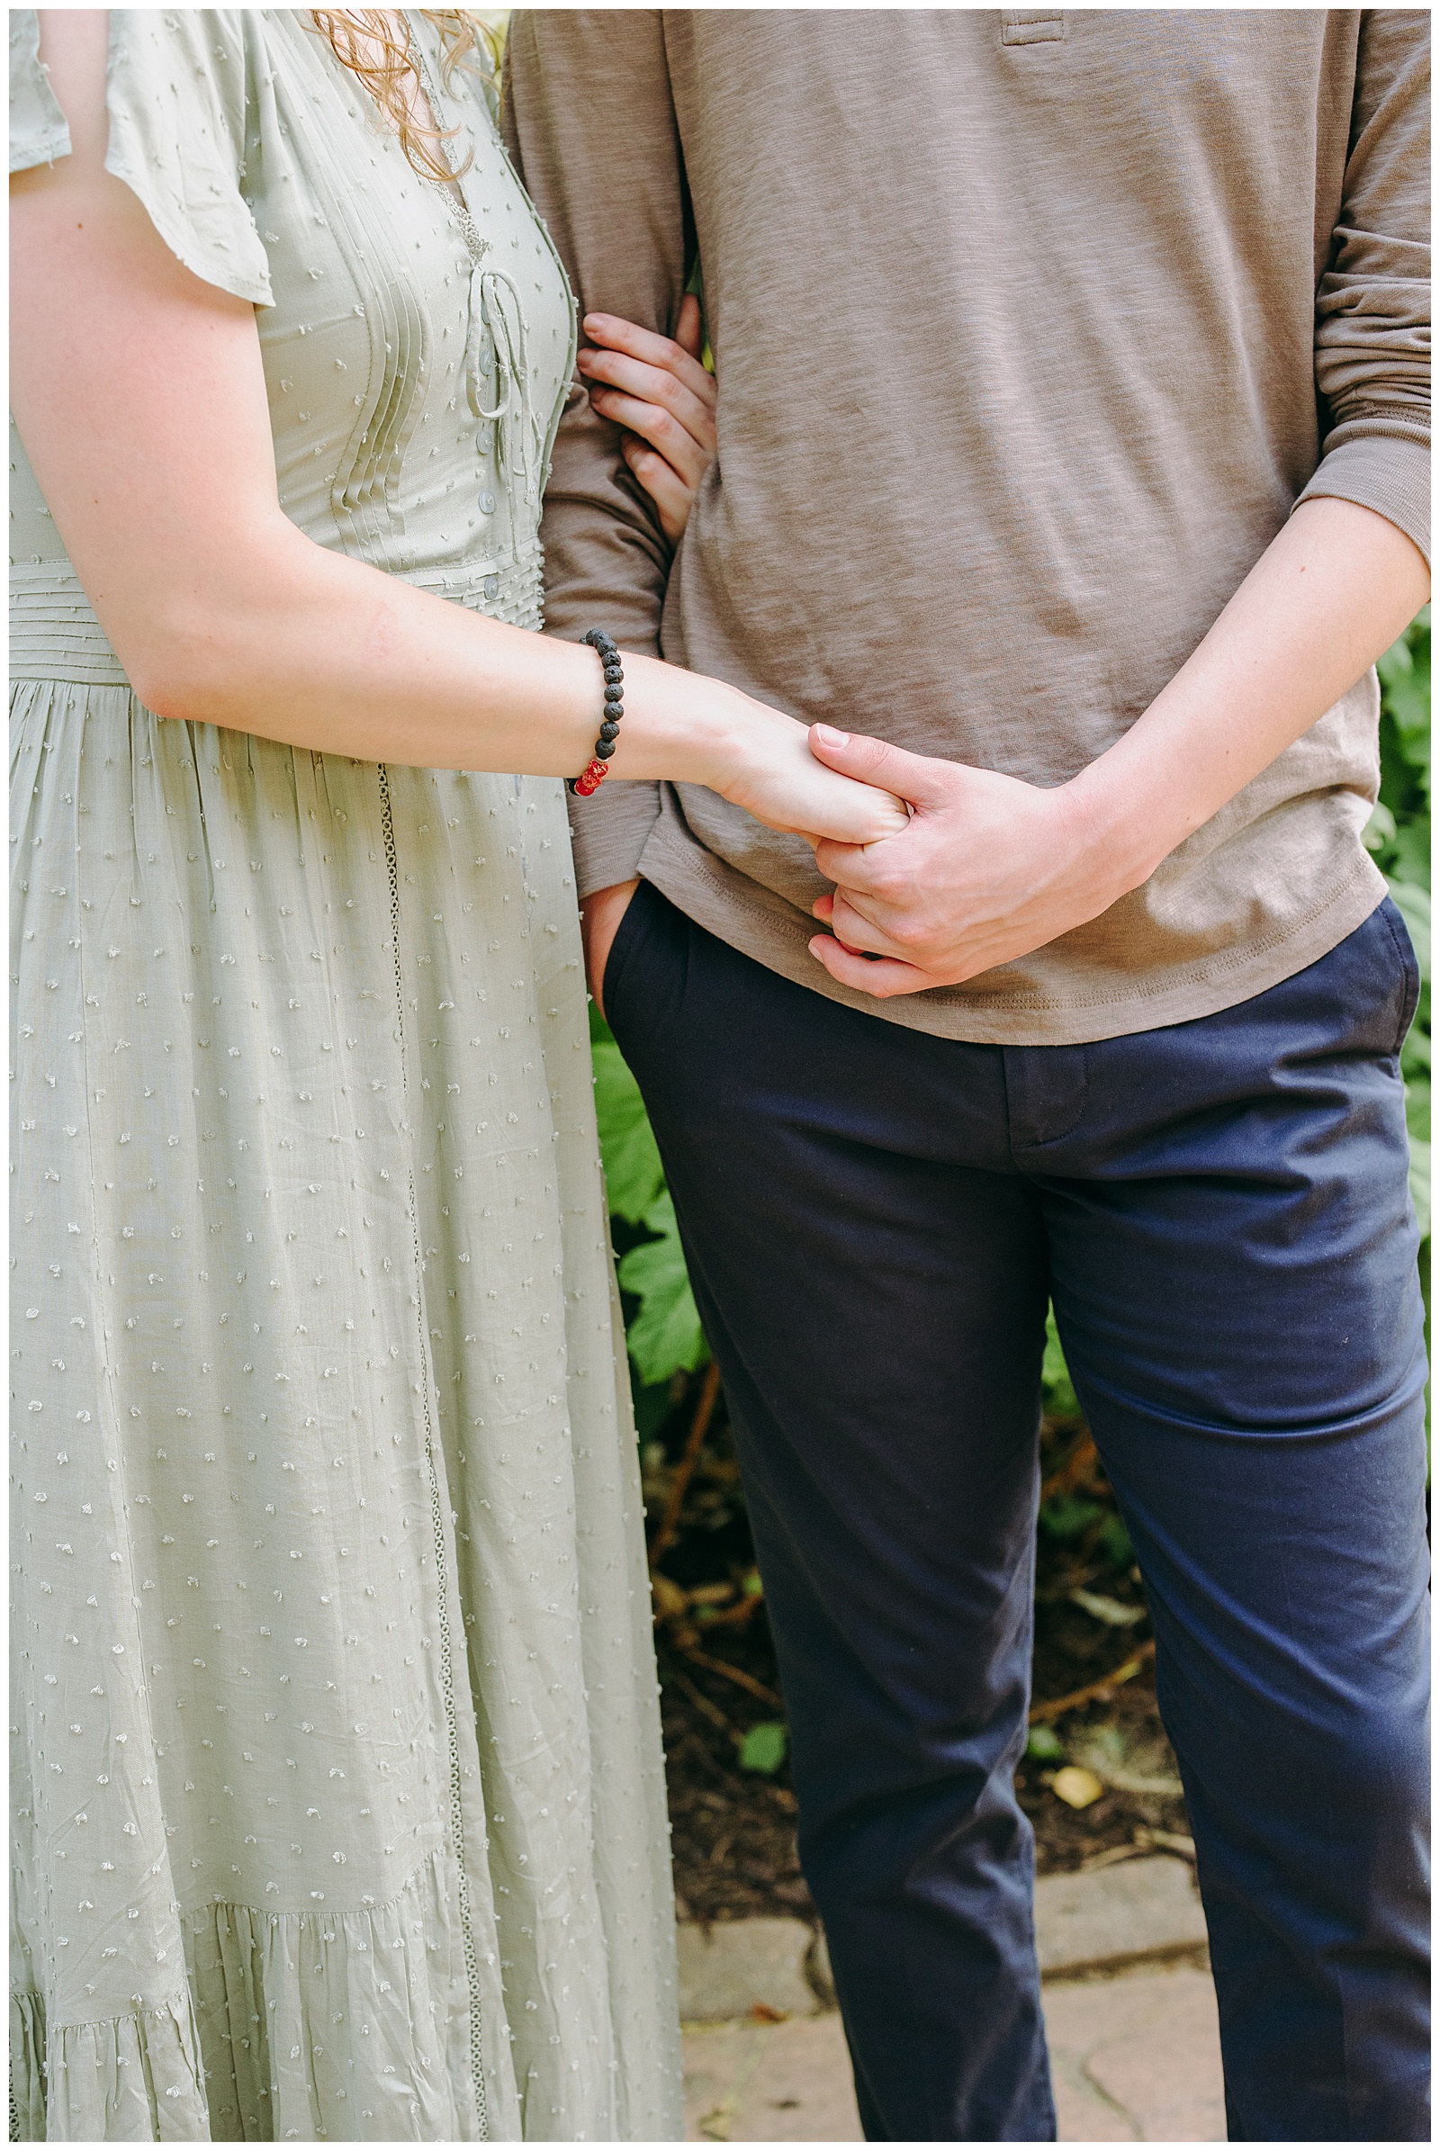
{"label": "woman's hand gripping the man's upper arm", "polygon": [[700,301],[684,295],[674,338],[616,314],[585,314],[583,329],[594,348],[575,364],[590,383],[590,402],[626,428],[620,454],[678,544],[715,456],[715,374],[700,364]]}

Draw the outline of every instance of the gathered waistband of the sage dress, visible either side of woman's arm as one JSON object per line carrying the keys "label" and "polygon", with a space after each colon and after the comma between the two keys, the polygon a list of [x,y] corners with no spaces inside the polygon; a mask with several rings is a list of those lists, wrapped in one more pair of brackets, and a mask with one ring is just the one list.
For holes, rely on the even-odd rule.
{"label": "gathered waistband of the sage dress, visible either side of woman's arm", "polygon": [[[534,544],[519,559],[415,568],[398,581],[514,628],[545,622],[545,566]],[[67,559],[11,561],[11,680],[129,686],[80,576]]]}

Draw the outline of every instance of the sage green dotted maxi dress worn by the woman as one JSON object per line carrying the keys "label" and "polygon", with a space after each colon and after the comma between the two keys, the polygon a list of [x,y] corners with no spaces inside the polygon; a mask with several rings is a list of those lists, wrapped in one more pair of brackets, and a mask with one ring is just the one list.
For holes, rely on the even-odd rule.
{"label": "sage green dotted maxi dress worn by the woman", "polygon": [[[536,628],[573,303],[409,22],[469,239],[301,13],[112,11],[108,166],[286,514]],[[161,723],[11,458],[13,2132],[678,2136],[562,787]]]}

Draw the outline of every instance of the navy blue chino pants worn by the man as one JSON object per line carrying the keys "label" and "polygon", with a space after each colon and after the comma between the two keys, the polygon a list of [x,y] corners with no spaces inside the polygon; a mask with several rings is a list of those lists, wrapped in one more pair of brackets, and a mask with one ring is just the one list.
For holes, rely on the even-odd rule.
{"label": "navy blue chino pants worn by the man", "polygon": [[1386,901],[1220,1015],[962,1045],[641,884],[605,1005],[734,1422],[865,2134],[1055,2136],[1046,1299],[1145,1577],[1231,2140],[1427,2140],[1423,1334]]}

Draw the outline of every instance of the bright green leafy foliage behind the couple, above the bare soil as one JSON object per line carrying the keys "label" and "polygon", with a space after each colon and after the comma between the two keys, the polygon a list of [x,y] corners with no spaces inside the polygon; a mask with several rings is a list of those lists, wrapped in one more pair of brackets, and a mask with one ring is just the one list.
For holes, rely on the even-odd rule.
{"label": "bright green leafy foliage behind the couple, above the bare soil", "polygon": [[[1410,1185],[1429,1235],[1429,607],[1380,660],[1380,804],[1365,830],[1365,843],[1384,871],[1395,903],[1406,916],[1421,959],[1421,1007],[1401,1069],[1410,1121]],[[650,1121],[620,1048],[590,1011],[594,1095],[601,1121],[601,1153],[609,1185],[609,1209],[620,1256],[620,1288],[626,1299],[626,1344],[641,1387],[654,1390],[680,1370],[708,1357],[700,1314],[684,1269],[676,1209],[665,1187],[661,1153]],[[1429,1250],[1425,1250],[1427,1254]],[[1046,1411],[1078,1415],[1065,1355],[1046,1327]]]}

